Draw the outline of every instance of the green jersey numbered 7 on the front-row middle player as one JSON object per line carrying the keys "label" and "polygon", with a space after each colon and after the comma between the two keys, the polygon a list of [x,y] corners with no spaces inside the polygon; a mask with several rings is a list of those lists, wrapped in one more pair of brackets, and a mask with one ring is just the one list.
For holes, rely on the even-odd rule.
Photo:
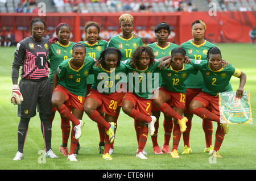
{"label": "green jersey numbered 7 on the front-row middle player", "polygon": [[157,68],[160,65],[160,61],[154,62],[153,65],[148,65],[145,70],[131,68],[129,62],[130,60],[123,61],[123,64],[127,67],[129,77],[127,90],[141,98],[151,99],[152,92],[159,88],[159,73],[157,72]]}

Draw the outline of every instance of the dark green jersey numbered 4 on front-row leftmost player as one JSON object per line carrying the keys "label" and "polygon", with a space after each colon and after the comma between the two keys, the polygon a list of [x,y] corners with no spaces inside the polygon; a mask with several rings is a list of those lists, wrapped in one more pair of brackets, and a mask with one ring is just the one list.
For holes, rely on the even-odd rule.
{"label": "dark green jersey numbered 4 on front-row leftmost player", "polygon": [[59,77],[57,85],[65,87],[72,94],[84,97],[86,94],[86,77],[95,61],[92,57],[85,57],[84,64],[80,69],[76,70],[72,68],[71,60],[72,58],[64,60],[57,68]]}

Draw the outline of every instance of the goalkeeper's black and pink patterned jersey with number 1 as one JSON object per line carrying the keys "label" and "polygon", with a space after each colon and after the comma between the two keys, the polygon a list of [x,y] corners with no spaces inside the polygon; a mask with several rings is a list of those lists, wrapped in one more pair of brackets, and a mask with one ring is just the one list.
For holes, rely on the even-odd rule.
{"label": "goalkeeper's black and pink patterned jersey with number 1", "polygon": [[18,82],[19,68],[22,66],[20,77],[25,79],[36,79],[48,77],[47,64],[49,41],[42,38],[42,41],[35,41],[30,36],[17,44],[13,61],[13,82]]}

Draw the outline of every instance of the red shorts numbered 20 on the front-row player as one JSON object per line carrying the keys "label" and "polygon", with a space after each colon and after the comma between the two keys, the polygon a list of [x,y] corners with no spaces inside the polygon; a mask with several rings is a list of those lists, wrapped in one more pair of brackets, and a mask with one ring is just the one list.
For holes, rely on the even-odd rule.
{"label": "red shorts numbered 20 on the front-row player", "polygon": [[118,107],[118,94],[118,92],[102,94],[97,90],[91,89],[86,99],[91,98],[97,100],[100,104],[100,110],[114,117]]}

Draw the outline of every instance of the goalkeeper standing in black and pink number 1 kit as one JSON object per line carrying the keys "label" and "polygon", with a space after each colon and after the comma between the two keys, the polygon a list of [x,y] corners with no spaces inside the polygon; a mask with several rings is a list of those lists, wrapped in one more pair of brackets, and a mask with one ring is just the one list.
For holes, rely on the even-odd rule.
{"label": "goalkeeper standing in black and pink number 1 kit", "polygon": [[[13,94],[11,102],[18,104],[18,151],[13,160],[24,158],[23,148],[26,140],[28,123],[36,115],[38,105],[41,129],[44,138],[46,157],[58,158],[51,149],[51,83],[48,78],[47,64],[49,41],[43,37],[46,23],[42,19],[32,19],[31,35],[17,44],[14,53]],[[18,86],[19,68],[22,66]]]}

